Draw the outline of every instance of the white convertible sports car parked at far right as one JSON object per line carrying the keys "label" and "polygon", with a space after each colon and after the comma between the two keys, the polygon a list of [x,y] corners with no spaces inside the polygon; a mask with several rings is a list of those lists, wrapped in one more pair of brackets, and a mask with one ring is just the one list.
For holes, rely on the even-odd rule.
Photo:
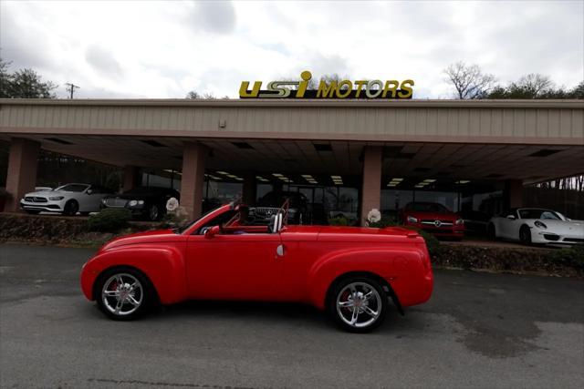
{"label": "white convertible sports car parked at far right", "polygon": [[584,243],[584,221],[569,220],[555,210],[518,208],[506,217],[489,220],[487,233],[493,240],[503,238],[523,243]]}

